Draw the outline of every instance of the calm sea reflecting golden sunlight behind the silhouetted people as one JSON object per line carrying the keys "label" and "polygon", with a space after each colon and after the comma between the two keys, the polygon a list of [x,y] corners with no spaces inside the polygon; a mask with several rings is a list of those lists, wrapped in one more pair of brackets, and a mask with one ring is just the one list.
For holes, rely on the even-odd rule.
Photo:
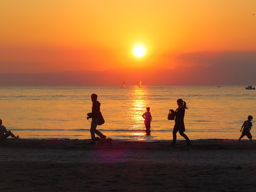
{"label": "calm sea reflecting golden sunlight behind the silhouetted people", "polygon": [[[90,139],[91,94],[98,95],[107,138],[170,141],[174,121],[167,120],[182,98],[185,134],[190,139],[237,140],[248,115],[256,120],[256,90],[244,86],[0,86],[0,119],[23,139]],[[142,114],[150,107],[151,133]],[[254,119],[252,120],[254,125]],[[252,139],[256,136],[254,126]],[[177,134],[177,139],[183,139]],[[243,139],[247,139],[245,136]]]}

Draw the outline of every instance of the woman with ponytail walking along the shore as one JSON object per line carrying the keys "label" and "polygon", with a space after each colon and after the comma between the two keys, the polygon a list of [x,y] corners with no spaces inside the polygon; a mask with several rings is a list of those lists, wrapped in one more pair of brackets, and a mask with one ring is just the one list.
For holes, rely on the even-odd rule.
{"label": "woman with ponytail walking along the shore", "polygon": [[178,108],[174,111],[173,109],[170,109],[172,113],[175,114],[175,125],[172,130],[172,143],[171,146],[176,145],[176,134],[179,131],[180,135],[186,139],[187,145],[192,144],[192,140],[190,140],[187,135],[184,133],[185,131],[185,125],[184,125],[184,116],[185,116],[185,109],[188,109],[186,107],[186,102],[182,99],[177,100]]}

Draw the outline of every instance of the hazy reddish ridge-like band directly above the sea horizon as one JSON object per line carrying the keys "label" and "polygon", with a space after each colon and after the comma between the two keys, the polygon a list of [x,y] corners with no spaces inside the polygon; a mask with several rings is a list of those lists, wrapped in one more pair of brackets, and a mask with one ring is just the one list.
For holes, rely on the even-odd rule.
{"label": "hazy reddish ridge-like band directly above the sea horizon", "polygon": [[0,74],[0,85],[255,85],[256,65],[215,64],[176,69],[109,69]]}

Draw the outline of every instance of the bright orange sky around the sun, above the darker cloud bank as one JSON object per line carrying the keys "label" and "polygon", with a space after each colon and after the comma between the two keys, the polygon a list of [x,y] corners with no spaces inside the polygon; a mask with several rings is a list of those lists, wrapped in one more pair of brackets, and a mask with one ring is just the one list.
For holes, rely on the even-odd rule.
{"label": "bright orange sky around the sun, above the darker cloud bank", "polygon": [[0,73],[204,64],[176,56],[256,51],[254,13],[255,0],[0,1]]}

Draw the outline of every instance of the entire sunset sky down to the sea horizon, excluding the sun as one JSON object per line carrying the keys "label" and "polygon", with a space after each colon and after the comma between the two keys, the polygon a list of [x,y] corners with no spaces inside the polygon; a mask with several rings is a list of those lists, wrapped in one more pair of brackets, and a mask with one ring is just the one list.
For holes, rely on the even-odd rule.
{"label": "entire sunset sky down to the sea horizon, excluding the sun", "polygon": [[253,85],[254,13],[255,0],[1,1],[0,85]]}

